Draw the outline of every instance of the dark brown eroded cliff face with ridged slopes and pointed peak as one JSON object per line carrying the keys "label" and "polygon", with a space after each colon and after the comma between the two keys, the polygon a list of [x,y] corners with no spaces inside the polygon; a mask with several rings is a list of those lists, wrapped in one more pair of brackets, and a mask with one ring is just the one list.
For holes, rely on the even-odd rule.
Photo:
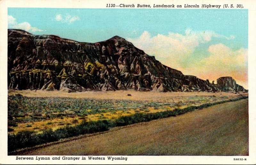
{"label": "dark brown eroded cliff face with ridged slopes and pointed peak", "polygon": [[84,43],[11,29],[8,85],[19,90],[245,91],[232,82],[215,85],[183,75],[118,36]]}

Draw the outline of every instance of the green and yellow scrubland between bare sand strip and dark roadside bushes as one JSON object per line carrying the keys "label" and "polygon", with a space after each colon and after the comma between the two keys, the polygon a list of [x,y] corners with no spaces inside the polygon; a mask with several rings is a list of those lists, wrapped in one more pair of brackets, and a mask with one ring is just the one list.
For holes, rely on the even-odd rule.
{"label": "green and yellow scrubland between bare sand strip and dark roadside bushes", "polygon": [[[233,96],[235,97],[235,96]],[[140,110],[147,111],[150,107],[161,111],[193,105],[228,100],[227,96],[190,96],[173,101],[142,101],[90,99],[71,97],[25,97],[22,95],[8,96],[8,126],[14,123],[35,122],[53,118],[76,118],[92,114],[115,111]],[[150,111],[151,112],[151,111]]]}

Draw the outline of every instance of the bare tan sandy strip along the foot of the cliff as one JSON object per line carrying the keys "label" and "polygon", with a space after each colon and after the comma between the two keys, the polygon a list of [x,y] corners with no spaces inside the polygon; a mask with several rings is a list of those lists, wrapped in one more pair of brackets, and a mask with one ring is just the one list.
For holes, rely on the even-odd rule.
{"label": "bare tan sandy strip along the foot of the cliff", "polygon": [[[117,90],[117,91],[86,91],[86,92],[63,92],[59,90],[44,91],[44,90],[8,90],[8,95],[21,94],[27,97],[73,97],[73,98],[95,98],[95,99],[128,99],[128,100],[147,100],[147,101],[168,101],[175,97],[190,97],[190,96],[238,96],[247,95],[247,93],[228,93],[228,92],[141,92],[136,90]],[[127,96],[131,94],[132,96]]]}

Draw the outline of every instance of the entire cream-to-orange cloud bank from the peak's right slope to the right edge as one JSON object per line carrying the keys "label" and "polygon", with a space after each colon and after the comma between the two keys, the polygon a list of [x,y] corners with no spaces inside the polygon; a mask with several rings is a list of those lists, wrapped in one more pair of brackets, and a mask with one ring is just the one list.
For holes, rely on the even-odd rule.
{"label": "entire cream-to-orange cloud bank from the peak's right slope to the right edge", "polygon": [[213,38],[229,40],[234,39],[235,36],[227,37],[213,31],[196,32],[187,29],[184,35],[169,32],[168,35],[151,36],[145,31],[140,37],[127,40],[146,54],[156,56],[156,59],[164,65],[178,69],[185,75],[195,75],[211,81],[216,81],[221,76],[232,76],[238,84],[246,88],[248,81],[247,49],[232,50],[219,43],[205,47],[206,51],[208,48],[210,56],[206,57],[202,54],[201,59],[194,58],[196,47],[206,44]]}

